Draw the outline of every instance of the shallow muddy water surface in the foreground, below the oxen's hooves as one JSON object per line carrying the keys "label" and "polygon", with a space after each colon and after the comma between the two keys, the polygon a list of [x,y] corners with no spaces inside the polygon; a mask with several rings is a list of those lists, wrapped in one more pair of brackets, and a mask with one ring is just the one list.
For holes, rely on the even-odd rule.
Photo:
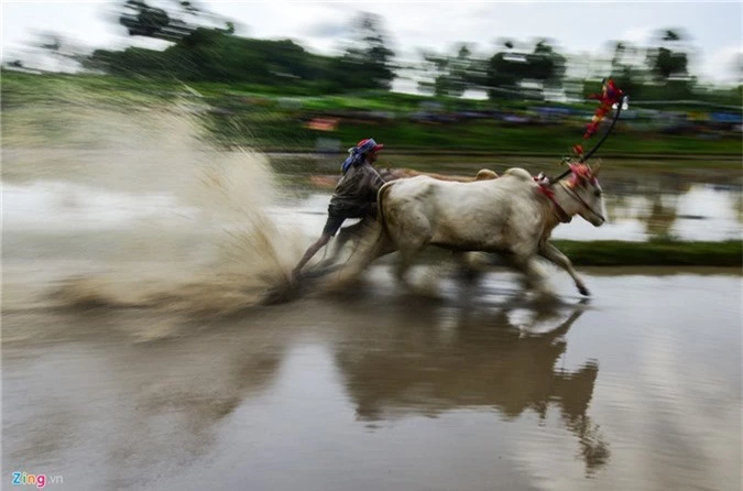
{"label": "shallow muddy water surface in the foreground, below the oxen's hooves", "polygon": [[[3,316],[3,468],[55,489],[739,489],[739,275],[510,273],[222,319]],[[12,285],[6,285],[12,287]],[[3,477],[3,479],[7,477]]]}

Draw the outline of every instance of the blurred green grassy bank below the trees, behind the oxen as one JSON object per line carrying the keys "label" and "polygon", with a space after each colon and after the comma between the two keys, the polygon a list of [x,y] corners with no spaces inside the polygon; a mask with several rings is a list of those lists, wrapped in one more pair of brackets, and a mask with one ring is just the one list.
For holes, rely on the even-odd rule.
{"label": "blurred green grassy bank below the trees, behind the oxen", "polygon": [[[522,111],[524,101],[498,102],[460,99],[434,99],[393,92],[360,92],[343,96],[302,96],[275,94],[265,87],[228,86],[223,84],[185,84],[152,79],[130,79],[91,75],[29,75],[3,70],[3,132],[12,135],[29,119],[29,111],[56,111],[44,118],[50,139],[62,138],[66,117],[86,107],[125,110],[146,118],[147,109],[171,108],[178,103],[197,114],[215,142],[244,145],[261,151],[313,152],[318,139],[336,142],[346,149],[361,138],[373,137],[387,144],[391,152],[455,152],[510,155],[544,155],[555,159],[568,155],[580,143],[582,119],[560,123],[512,123],[495,118],[452,122],[419,122],[411,116],[422,102],[436,101],[446,110]],[[532,102],[538,105],[538,102]],[[136,113],[134,111],[141,109]],[[581,110],[592,111],[594,105]],[[306,127],[315,117],[334,113],[341,117],[335,131],[317,131]],[[380,118],[379,113],[385,113]],[[373,114],[378,116],[373,116]],[[62,128],[51,128],[55,121]],[[28,122],[28,121],[26,121]],[[28,126],[28,124],[26,124]],[[8,140],[4,140],[8,141]],[[586,146],[591,146],[598,137]],[[614,134],[602,146],[603,157],[666,159],[693,155],[737,159],[743,154],[740,133],[692,131],[671,134],[641,130],[620,120]]]}

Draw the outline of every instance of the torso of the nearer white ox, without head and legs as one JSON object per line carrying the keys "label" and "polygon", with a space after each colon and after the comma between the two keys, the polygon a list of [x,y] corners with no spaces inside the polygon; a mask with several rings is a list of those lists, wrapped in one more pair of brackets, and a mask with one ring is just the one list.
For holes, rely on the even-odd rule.
{"label": "torso of the nearer white ox, without head and legs", "polygon": [[380,219],[397,249],[535,253],[549,216],[524,170],[492,181],[456,183],[417,176],[386,184]]}

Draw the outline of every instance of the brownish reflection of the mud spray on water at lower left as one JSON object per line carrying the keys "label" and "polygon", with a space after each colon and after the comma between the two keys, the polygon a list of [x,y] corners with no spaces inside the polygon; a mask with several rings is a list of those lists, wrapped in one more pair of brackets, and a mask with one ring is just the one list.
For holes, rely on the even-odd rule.
{"label": "brownish reflection of the mud spray on water at lower left", "polygon": [[56,469],[75,489],[143,489],[212,451],[228,416],[275,383],[284,345],[269,334],[146,340],[172,319],[144,314],[3,316],[13,332],[40,326],[3,346],[3,463]]}

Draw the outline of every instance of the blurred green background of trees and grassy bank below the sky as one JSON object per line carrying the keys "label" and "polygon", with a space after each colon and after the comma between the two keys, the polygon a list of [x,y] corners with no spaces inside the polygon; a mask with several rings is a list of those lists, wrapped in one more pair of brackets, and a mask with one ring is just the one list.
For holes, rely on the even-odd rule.
{"label": "blurred green background of trees and grassy bank below the sky", "polygon": [[[743,85],[701,84],[690,72],[695,48],[681,29],[658,30],[648,46],[613,42],[605,63],[581,67],[548,39],[503,39],[490,53],[459,43],[449,53],[420,50],[417,61],[403,62],[389,47],[384,20],[370,13],[349,20],[351,39],[337,55],[288,39],[240,36],[232,21],[189,1],[127,0],[116,20],[129,35],[168,46],[90,52],[48,33],[37,47],[74,64],[75,73],[50,80],[23,59],[6,63],[3,110],[53,97],[61,80],[74,79],[124,105],[190,98],[227,145],[337,151],[340,142],[373,134],[398,149],[554,154],[578,143],[596,108],[588,96],[611,77],[631,96],[622,124],[635,133],[624,143],[618,139],[615,152],[741,153]],[[418,95],[392,91],[396,78],[414,83]]]}

